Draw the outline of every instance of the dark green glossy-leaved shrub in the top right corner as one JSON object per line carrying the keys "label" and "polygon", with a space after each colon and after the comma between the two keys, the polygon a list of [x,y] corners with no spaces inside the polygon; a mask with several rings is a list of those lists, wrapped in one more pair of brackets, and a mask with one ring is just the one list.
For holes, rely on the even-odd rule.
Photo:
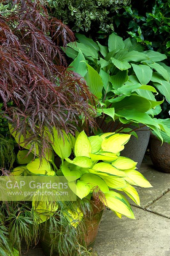
{"label": "dark green glossy-leaved shrub in the top right corner", "polygon": [[114,16],[115,32],[127,37],[127,33],[149,50],[170,56],[170,1],[135,0],[124,6],[125,12]]}

